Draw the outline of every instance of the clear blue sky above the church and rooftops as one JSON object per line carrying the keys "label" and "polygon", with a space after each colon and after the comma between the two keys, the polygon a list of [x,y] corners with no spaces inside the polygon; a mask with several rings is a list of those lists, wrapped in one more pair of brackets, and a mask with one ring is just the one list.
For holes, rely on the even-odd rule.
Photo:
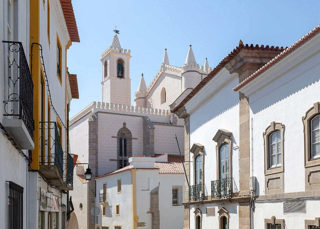
{"label": "clear blue sky above the church and rooftops", "polygon": [[289,46],[320,23],[319,1],[88,1],[73,0],[80,43],[68,50],[79,99],[70,117],[100,101],[101,53],[114,32],[130,49],[131,105],[143,72],[147,86],[160,69],[164,49],[181,67],[192,45],[197,63],[214,68],[241,39],[244,44]]}

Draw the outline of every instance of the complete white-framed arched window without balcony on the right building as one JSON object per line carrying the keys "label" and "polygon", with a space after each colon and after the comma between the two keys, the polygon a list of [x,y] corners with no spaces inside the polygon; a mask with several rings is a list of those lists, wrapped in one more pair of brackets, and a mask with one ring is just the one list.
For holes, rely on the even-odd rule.
{"label": "complete white-framed arched window without balcony on the right building", "polygon": [[277,130],[269,135],[269,168],[281,166],[281,134]]}

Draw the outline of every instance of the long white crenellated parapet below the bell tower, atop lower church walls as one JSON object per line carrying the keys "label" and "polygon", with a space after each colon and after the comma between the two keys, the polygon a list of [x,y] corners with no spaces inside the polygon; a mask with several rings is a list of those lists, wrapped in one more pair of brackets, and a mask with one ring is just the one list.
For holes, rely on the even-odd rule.
{"label": "long white crenellated parapet below the bell tower, atop lower church walls", "polygon": [[69,120],[69,125],[72,125],[77,120],[81,119],[90,112],[110,112],[115,114],[128,114],[128,115],[139,115],[148,116],[151,121],[170,123],[170,111],[146,107],[128,106],[107,102],[92,102],[86,108],[77,113],[74,117]]}

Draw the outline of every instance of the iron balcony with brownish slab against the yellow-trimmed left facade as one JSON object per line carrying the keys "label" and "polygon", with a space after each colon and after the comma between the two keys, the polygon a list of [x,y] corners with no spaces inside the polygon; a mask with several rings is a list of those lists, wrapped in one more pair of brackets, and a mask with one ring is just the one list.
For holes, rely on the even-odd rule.
{"label": "iron balcony with brownish slab against the yellow-trimmed left facade", "polygon": [[39,169],[52,186],[62,186],[63,151],[57,123],[40,122],[40,131]]}

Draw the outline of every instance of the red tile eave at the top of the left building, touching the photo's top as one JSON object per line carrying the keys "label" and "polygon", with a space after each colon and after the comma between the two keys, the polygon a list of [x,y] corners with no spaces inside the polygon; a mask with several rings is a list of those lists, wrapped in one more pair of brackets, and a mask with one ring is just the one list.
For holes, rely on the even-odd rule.
{"label": "red tile eave at the top of the left building, touching the photo's top", "polygon": [[60,4],[71,41],[80,42],[75,13],[73,12],[71,0],[60,0]]}

